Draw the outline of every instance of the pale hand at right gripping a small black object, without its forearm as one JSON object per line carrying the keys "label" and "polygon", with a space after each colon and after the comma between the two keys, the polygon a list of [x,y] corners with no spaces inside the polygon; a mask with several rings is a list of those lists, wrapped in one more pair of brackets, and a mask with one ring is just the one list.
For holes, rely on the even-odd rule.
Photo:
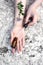
{"label": "pale hand at right gripping a small black object, without its forearm", "polygon": [[29,25],[34,25],[35,23],[37,23],[38,17],[39,17],[37,12],[36,12],[36,9],[34,8],[34,5],[31,5],[30,8],[27,11],[27,16],[26,16],[26,19],[25,19],[26,22],[28,22],[31,15],[33,16],[33,21],[31,23],[29,23]]}

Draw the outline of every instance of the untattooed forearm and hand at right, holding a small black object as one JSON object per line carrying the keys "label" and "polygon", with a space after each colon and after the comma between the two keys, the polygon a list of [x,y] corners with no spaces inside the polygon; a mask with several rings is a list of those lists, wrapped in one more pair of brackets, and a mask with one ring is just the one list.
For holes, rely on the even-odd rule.
{"label": "untattooed forearm and hand at right, holding a small black object", "polygon": [[36,12],[36,9],[37,9],[37,7],[42,3],[42,1],[43,1],[43,0],[36,0],[36,1],[30,6],[30,8],[28,9],[26,21],[28,21],[28,19],[29,19],[29,17],[31,17],[31,15],[34,16],[33,21],[29,24],[30,26],[31,26],[31,25],[34,25],[35,23],[37,23],[37,21],[38,21],[38,19],[39,19],[39,15],[38,15],[38,13]]}

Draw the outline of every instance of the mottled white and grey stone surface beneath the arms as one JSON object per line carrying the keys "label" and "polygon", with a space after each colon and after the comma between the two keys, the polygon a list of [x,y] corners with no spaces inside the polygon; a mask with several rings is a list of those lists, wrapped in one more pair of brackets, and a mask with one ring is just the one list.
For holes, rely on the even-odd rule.
{"label": "mottled white and grey stone surface beneath the arms", "polygon": [[[10,46],[14,23],[14,0],[0,0],[0,47]],[[25,48],[13,55],[9,50],[0,55],[0,65],[43,65],[43,3],[38,7],[39,21],[25,29]]]}

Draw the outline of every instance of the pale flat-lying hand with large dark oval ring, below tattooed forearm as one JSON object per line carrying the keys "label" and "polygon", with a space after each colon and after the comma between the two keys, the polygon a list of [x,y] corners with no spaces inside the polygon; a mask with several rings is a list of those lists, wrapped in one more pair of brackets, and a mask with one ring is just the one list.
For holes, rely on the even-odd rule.
{"label": "pale flat-lying hand with large dark oval ring, below tattooed forearm", "polygon": [[[17,50],[18,52],[22,51],[24,44],[25,44],[25,33],[24,28],[20,26],[15,26],[11,32],[11,44],[13,39],[17,37]],[[14,53],[15,49],[12,49],[12,52]]]}

